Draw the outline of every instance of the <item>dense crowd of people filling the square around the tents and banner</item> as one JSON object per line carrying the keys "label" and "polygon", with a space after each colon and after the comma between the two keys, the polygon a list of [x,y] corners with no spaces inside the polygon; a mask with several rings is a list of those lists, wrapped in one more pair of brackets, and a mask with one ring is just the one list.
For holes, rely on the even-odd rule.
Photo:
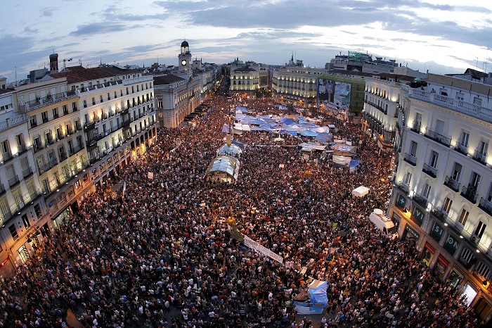
{"label": "dense crowd of people filling the square around the tents and banner", "polygon": [[[283,114],[266,99],[242,100],[255,112]],[[44,238],[43,256],[3,279],[4,324],[65,327],[70,309],[84,327],[479,326],[412,241],[370,225],[369,213],[387,208],[391,156],[360,125],[330,118],[357,145],[356,172],[335,168],[326,152],[306,159],[276,135],[243,132],[234,136],[245,144],[238,181],[211,182],[205,172],[224,145],[231,103],[208,101],[206,119],[158,130],[145,155],[122,168],[124,195],[86,196]],[[361,185],[370,195],[352,196]],[[245,248],[227,222],[305,275]],[[328,308],[316,322],[292,306],[310,278],[328,282]]]}

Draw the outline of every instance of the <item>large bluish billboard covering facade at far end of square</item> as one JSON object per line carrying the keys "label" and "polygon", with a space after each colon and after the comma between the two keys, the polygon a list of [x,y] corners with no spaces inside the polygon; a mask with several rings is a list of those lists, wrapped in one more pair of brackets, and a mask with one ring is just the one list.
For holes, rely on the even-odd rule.
{"label": "large bluish billboard covering facade at far end of square", "polygon": [[337,113],[349,111],[350,87],[349,83],[318,79],[318,106],[322,104]]}

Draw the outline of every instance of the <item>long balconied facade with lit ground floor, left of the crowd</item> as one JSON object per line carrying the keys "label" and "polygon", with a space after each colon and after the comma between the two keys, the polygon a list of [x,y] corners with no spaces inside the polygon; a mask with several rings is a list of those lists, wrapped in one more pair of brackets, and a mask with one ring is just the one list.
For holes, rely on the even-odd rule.
{"label": "long balconied facade with lit ground floor, left of the crowd", "polygon": [[29,260],[87,192],[157,136],[153,79],[135,71],[75,66],[10,96],[12,110],[0,112],[0,275]]}

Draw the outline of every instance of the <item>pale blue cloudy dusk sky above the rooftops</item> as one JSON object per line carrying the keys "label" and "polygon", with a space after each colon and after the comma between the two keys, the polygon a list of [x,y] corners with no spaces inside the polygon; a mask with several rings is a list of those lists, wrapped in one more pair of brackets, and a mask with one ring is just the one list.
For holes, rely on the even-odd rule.
{"label": "pale blue cloudy dusk sky above the rooftops", "polygon": [[15,66],[18,80],[48,67],[53,50],[72,58],[67,65],[176,65],[183,39],[193,57],[219,64],[239,57],[283,65],[294,53],[323,67],[350,50],[421,72],[492,69],[485,0],[4,0],[0,9],[0,75],[9,82]]}

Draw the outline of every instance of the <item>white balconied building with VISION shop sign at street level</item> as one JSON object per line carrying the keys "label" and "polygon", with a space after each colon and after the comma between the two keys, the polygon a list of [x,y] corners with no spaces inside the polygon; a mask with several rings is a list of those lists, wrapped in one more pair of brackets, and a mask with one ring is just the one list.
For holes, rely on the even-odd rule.
{"label": "white balconied building with VISION shop sign at street level", "polygon": [[[396,90],[378,81],[370,86],[384,110],[385,92],[397,99]],[[434,274],[462,290],[487,320],[492,310],[491,89],[441,75],[401,85],[404,127],[388,213]]]}

